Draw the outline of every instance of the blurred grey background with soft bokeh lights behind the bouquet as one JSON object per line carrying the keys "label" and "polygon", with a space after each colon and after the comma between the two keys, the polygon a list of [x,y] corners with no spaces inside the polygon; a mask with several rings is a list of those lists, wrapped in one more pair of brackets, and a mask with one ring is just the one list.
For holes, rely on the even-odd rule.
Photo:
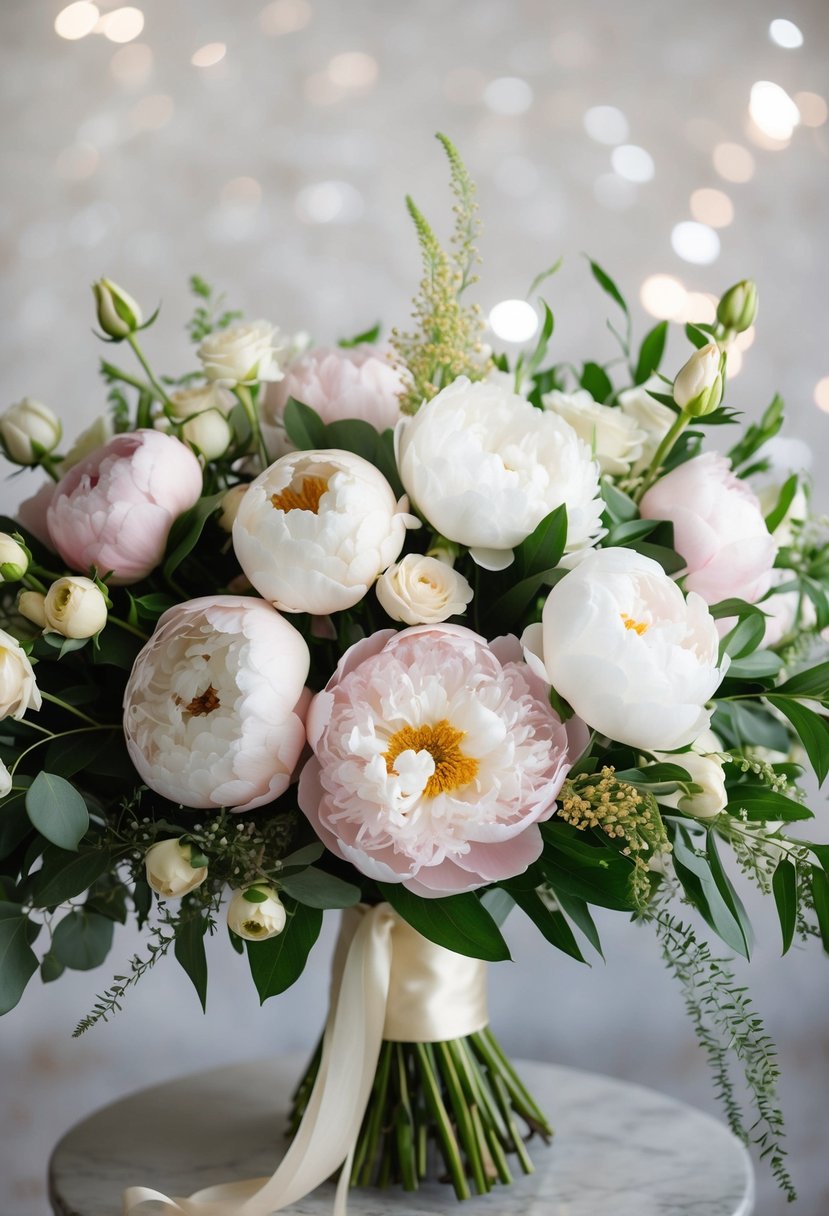
{"label": "blurred grey background with soft bokeh lights behind the bouquet", "polygon": [[[559,358],[615,355],[611,305],[583,252],[614,275],[639,336],[655,316],[704,320],[706,297],[755,276],[760,323],[729,404],[756,416],[774,389],[784,394],[825,508],[825,0],[97,0],[97,11],[4,0],[0,34],[4,407],[36,396],[69,437],[101,411],[89,292],[98,275],[146,311],[163,302],[146,349],[169,372],[192,364],[193,271],[249,316],[317,340],[404,322],[419,268],[402,196],[445,231],[432,137],[444,130],[480,186],[485,313],[521,298],[564,254],[543,289]],[[684,349],[675,343],[667,371]],[[2,506],[36,484],[5,482]],[[816,810],[825,835],[822,798]],[[504,1041],[716,1110],[649,931],[611,914],[602,923],[608,963],[592,969],[509,925],[517,961],[492,985]],[[829,1210],[827,970],[817,951],[778,958],[766,908],[757,930],[751,983],[780,1048],[795,1211],[819,1216]],[[4,1020],[2,1214],[45,1216],[50,1147],[96,1105],[194,1068],[310,1046],[327,945],[263,1010],[244,961],[222,940],[213,947],[207,1018],[170,961],[114,1023],[71,1040],[136,948],[124,931],[103,972],[33,984]],[[758,1212],[784,1207],[761,1175]]]}

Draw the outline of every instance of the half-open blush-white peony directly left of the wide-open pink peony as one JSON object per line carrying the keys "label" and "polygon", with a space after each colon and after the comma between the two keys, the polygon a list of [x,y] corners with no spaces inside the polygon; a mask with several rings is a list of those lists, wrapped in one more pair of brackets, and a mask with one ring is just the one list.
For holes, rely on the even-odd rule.
{"label": "half-open blush-white peony directly left of the wide-open pink peony", "polygon": [[184,806],[249,811],[284,793],[305,730],[309,651],[261,599],[209,596],[159,619],[124,693],[141,779]]}

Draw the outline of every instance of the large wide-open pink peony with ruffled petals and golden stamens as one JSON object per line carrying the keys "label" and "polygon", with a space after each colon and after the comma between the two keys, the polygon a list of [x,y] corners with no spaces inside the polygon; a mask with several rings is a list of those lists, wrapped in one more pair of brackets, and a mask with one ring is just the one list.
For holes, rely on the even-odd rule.
{"label": "large wide-open pink peony with ruffled petals and golden stamens", "polygon": [[568,732],[514,637],[461,625],[353,646],[311,702],[299,805],[323,844],[423,896],[523,873],[569,771]]}

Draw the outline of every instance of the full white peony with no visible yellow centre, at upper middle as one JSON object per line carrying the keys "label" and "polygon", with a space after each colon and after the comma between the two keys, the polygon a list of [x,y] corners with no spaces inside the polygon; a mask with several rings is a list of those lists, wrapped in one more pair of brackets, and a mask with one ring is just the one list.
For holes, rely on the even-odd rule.
{"label": "full white peony with no visible yellow centre, at upper middle", "polygon": [[458,377],[397,423],[395,444],[412,502],[487,569],[509,565],[513,548],[562,505],[568,550],[602,533],[599,471],[587,444],[500,383]]}

